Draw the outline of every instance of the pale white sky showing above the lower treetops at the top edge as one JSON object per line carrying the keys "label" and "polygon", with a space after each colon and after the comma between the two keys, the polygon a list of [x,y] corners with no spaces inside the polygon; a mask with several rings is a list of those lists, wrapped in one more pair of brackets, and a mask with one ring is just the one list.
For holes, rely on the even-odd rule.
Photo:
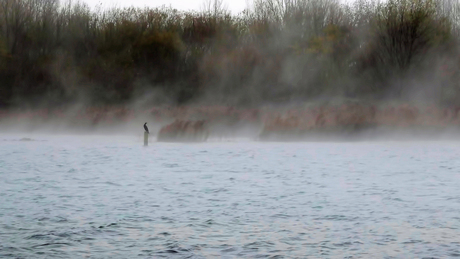
{"label": "pale white sky showing above the lower treetops at the top edge", "polygon": [[[101,5],[102,7],[160,7],[163,5],[172,6],[179,10],[202,10],[204,0],[83,0],[90,7]],[[227,0],[225,5],[233,13],[241,12],[247,6],[247,0]]]}

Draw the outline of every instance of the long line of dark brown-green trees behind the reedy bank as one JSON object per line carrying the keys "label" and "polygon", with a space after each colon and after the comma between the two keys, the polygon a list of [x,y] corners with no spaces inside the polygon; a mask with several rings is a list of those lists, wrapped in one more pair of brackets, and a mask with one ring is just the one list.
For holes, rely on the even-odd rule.
{"label": "long line of dark brown-green trees behind the reedy bank", "polygon": [[231,15],[0,2],[0,106],[256,105],[345,97],[460,105],[456,0],[254,0]]}

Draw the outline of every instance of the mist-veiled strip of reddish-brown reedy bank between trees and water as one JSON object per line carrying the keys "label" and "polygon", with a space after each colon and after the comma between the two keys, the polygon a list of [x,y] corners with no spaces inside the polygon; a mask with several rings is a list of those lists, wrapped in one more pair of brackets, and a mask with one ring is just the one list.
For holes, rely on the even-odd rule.
{"label": "mist-veiled strip of reddish-brown reedy bank between trees and water", "polygon": [[[151,141],[413,141],[460,140],[460,108],[362,101],[238,108],[163,106],[0,111],[0,132],[17,140],[37,135],[131,136]],[[160,135],[165,138],[160,139]],[[165,139],[165,140],[163,140]]]}

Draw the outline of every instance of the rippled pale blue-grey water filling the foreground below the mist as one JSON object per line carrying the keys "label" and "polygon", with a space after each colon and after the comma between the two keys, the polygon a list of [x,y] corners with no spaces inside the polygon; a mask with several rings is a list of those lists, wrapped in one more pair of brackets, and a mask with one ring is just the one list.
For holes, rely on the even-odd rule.
{"label": "rippled pale blue-grey water filling the foreground below the mist", "polygon": [[458,142],[22,137],[0,137],[2,258],[460,257]]}

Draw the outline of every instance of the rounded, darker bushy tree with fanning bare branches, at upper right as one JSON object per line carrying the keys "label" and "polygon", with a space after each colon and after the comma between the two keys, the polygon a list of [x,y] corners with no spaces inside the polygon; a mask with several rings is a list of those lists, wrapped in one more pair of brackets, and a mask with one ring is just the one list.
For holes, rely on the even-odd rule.
{"label": "rounded, darker bushy tree with fanning bare branches, at upper right", "polygon": [[401,94],[404,77],[450,37],[448,20],[437,12],[434,0],[389,0],[374,15],[365,66],[385,87],[396,82]]}

